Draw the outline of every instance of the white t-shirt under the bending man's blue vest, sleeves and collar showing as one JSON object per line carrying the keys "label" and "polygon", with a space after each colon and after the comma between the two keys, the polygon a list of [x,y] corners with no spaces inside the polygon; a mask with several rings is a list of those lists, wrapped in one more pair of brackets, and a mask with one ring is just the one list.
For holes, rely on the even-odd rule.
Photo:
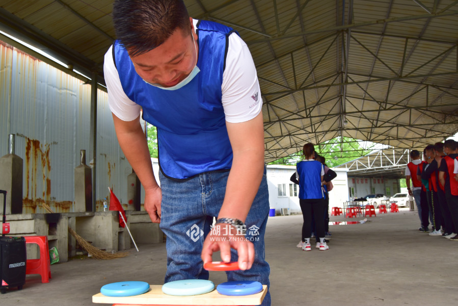
{"label": "white t-shirt under the bending man's blue vest, sleeves and collar showing", "polygon": [[[198,20],[193,19],[195,29],[197,22]],[[110,110],[119,119],[132,121],[140,115],[141,107],[130,100],[122,90],[113,62],[112,48],[113,46],[105,53],[103,65]],[[261,112],[262,98],[256,67],[247,44],[236,33],[229,36],[221,90],[226,121],[245,122]]]}

